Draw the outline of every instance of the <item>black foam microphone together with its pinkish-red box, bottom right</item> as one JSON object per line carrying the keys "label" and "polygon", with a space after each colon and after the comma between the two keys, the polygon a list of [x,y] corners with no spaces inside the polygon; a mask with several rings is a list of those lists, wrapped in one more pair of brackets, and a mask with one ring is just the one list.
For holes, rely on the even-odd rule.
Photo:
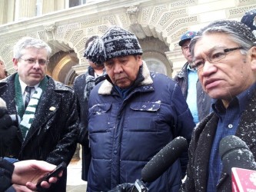
{"label": "black foam microphone together with its pinkish-red box, bottom right", "polygon": [[223,170],[232,180],[232,191],[256,191],[256,163],[248,145],[231,135],[221,140],[219,151]]}

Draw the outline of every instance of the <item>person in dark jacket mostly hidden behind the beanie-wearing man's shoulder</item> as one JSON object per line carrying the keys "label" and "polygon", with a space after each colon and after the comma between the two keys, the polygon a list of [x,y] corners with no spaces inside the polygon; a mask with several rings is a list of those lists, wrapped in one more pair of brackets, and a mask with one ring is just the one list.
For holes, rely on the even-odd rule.
{"label": "person in dark jacket mostly hidden behind the beanie-wearing man's shoulder", "polygon": [[[98,36],[91,36],[85,43],[85,49],[91,44]],[[87,121],[88,121],[88,97],[91,89],[95,87],[100,81],[105,80],[105,70],[102,63],[96,64],[88,60],[88,71],[85,74],[80,74],[75,78],[74,91],[78,98],[78,113],[80,117],[79,124],[79,138],[88,137]],[[79,139],[80,141],[80,139]],[[88,144],[82,145],[82,166],[81,166],[81,179],[87,180],[88,168],[91,161],[91,152]]]}

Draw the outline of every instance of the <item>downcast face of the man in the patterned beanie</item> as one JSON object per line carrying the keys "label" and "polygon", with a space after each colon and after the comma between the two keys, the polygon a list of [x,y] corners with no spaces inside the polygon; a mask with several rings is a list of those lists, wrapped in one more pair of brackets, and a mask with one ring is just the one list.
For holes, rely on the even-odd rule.
{"label": "downcast face of the man in the patterned beanie", "polygon": [[141,65],[141,55],[127,55],[105,61],[105,70],[113,84],[128,88],[137,78]]}

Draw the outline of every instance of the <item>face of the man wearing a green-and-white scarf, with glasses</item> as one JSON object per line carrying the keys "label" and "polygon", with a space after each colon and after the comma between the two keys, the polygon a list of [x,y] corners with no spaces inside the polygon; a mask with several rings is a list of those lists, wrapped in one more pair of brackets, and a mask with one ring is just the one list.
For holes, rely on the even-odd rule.
{"label": "face of the man wearing a green-and-white scarf, with glasses", "polygon": [[47,51],[44,48],[25,48],[21,58],[14,58],[13,65],[25,84],[34,86],[45,78],[48,61]]}

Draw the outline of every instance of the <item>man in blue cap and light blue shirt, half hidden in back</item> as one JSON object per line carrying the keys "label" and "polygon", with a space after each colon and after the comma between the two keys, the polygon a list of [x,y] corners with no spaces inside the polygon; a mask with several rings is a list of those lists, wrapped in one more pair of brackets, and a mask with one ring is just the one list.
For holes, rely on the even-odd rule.
{"label": "man in blue cap and light blue shirt, half hidden in back", "polygon": [[211,98],[201,88],[197,71],[191,68],[192,56],[189,51],[189,43],[195,34],[195,31],[187,31],[181,36],[181,41],[178,42],[187,62],[174,79],[181,86],[182,94],[188,103],[194,123],[198,124],[210,113]]}

